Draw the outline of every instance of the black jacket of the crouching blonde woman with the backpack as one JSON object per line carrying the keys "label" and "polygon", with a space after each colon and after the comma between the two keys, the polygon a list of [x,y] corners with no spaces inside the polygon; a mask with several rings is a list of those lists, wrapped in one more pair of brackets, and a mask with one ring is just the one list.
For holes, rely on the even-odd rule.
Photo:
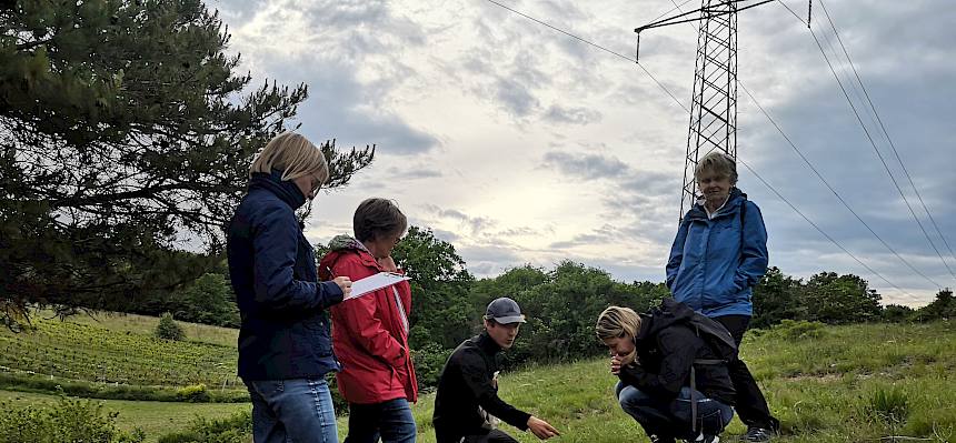
{"label": "black jacket of the crouching blonde woman with the backpack", "polygon": [[[717,353],[689,325],[694,314],[687,305],[665,300],[663,309],[641,314],[640,331],[635,338],[637,365],[621,369],[620,380],[660,399],[674,399],[690,385],[690,368],[696,359],[719,360]],[[734,384],[727,364],[698,364],[697,391],[708,399],[734,405]]]}

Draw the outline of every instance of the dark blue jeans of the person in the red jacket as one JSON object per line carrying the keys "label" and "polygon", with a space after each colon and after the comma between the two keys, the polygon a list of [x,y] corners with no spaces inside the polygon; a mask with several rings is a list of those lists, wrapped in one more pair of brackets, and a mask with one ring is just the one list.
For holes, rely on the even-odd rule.
{"label": "dark blue jeans of the person in the red jacket", "polygon": [[349,403],[349,435],[345,443],[415,443],[415,417],[408,400]]}

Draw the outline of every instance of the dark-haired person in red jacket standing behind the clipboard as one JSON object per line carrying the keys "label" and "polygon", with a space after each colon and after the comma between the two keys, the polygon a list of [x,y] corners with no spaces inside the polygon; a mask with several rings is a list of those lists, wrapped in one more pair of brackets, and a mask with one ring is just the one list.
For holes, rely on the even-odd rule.
{"label": "dark-haired person in red jacket standing behind the clipboard", "polygon": [[[356,209],[355,238],[338,235],[319,263],[323,280],[358,281],[379,272],[401,272],[391,259],[408,221],[390,200],[368,199]],[[336,374],[349,403],[345,443],[415,442],[409,402],[418,382],[408,348],[411,288],[407,281],[332,306],[332,348],[342,364]]]}

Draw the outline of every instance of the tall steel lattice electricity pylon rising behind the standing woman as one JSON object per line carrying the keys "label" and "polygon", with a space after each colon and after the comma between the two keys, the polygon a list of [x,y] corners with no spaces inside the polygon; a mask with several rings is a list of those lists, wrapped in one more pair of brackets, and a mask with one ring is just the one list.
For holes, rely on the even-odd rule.
{"label": "tall steel lattice electricity pylon rising behind the standing woman", "polygon": [[[773,0],[703,0],[700,9],[683,12],[636,28],[637,56],[640,32],[678,23],[700,22],[697,32],[697,61],[694,68],[694,95],[687,132],[687,155],[680,218],[697,200],[694,169],[697,159],[713,151],[737,158],[737,12]],[[694,17],[695,13],[699,16]]]}

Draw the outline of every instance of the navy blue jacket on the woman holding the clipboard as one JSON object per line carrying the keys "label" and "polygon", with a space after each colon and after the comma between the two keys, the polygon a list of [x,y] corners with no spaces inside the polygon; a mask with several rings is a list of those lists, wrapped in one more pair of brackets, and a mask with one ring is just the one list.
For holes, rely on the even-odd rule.
{"label": "navy blue jacket on the woman holding the clipboard", "polygon": [[295,210],[306,198],[281,172],[256,173],[229,223],[229,278],[242,319],[239,376],[288,380],[338,371],[326,309],[341,302],[318,283],[316,253]]}

